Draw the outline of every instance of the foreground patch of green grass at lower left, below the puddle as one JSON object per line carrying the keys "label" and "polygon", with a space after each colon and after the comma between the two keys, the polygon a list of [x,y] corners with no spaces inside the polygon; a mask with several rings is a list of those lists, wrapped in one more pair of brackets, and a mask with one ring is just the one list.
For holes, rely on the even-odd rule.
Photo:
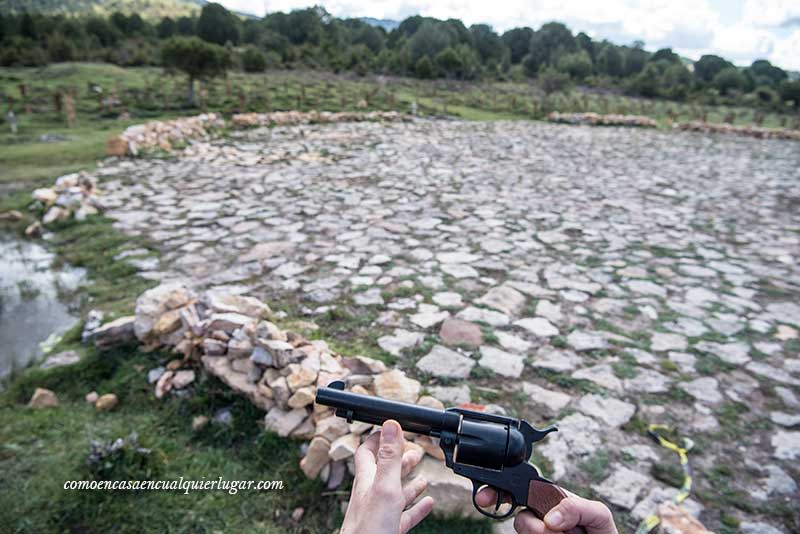
{"label": "foreground patch of green grass at lower left, below the puddle", "polygon": [[[143,369],[169,356],[133,348],[89,355],[70,368],[32,370],[0,396],[0,525],[4,531],[168,532],[332,530],[341,519],[336,499],[320,495],[321,483],[298,468],[297,444],[258,426],[259,410],[213,378],[197,384],[190,399],[157,401]],[[25,407],[34,387],[48,387],[61,406]],[[90,390],[117,393],[118,408],[97,413],[83,401]],[[229,407],[230,428],[191,430],[194,415]],[[112,441],[136,432],[149,448],[157,479],[283,480],[275,492],[65,491],[66,480],[90,480],[86,467],[91,440]],[[147,470],[132,470],[144,477]],[[24,498],[20,496],[24,495]],[[299,525],[288,515],[303,506]],[[9,530],[5,530],[8,528]]]}

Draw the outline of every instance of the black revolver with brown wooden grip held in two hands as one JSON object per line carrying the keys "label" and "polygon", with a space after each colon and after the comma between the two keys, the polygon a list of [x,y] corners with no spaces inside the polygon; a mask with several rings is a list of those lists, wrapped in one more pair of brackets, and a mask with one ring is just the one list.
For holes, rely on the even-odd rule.
{"label": "black revolver with brown wooden grip held in two hands", "polygon": [[[542,519],[566,498],[564,490],[543,478],[528,459],[533,444],[555,427],[539,430],[522,419],[490,415],[462,408],[436,410],[380,397],[345,391],[337,380],[317,390],[316,402],[335,409],[348,423],[382,425],[394,419],[404,431],[439,439],[445,465],[472,481],[472,504],[493,519],[509,517],[520,506]],[[491,487],[497,494],[494,509],[478,506],[478,492]],[[585,534],[582,527],[569,531]]]}

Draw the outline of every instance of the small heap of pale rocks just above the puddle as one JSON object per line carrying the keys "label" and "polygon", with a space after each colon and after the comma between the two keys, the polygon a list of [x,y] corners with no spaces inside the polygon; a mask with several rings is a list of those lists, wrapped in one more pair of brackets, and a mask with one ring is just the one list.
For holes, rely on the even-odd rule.
{"label": "small heap of pale rocks just above the puddle", "polygon": [[28,236],[41,231],[41,225],[67,221],[75,218],[84,220],[88,215],[102,209],[95,178],[86,172],[65,174],[56,180],[53,187],[41,187],[32,193],[36,207],[43,210],[41,223],[34,222],[25,230]]}

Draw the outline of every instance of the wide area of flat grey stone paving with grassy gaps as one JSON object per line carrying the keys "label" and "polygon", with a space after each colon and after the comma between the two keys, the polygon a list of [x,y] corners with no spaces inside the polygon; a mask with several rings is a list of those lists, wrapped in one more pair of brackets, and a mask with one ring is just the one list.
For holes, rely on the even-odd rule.
{"label": "wide area of flat grey stone paving with grassy gaps", "polygon": [[[538,447],[550,474],[634,520],[675,493],[651,469],[677,458],[641,432],[666,422],[702,444],[697,487],[752,505],[693,501],[705,521],[800,524],[798,143],[346,123],[240,132],[99,174],[119,228],[161,250],[127,254],[144,276],[291,298],[311,320],[374,315],[379,346],[419,362],[447,386],[437,394],[517,392],[518,413],[558,421]],[[454,318],[466,323],[438,337]],[[606,453],[587,478],[583,462]],[[793,519],[761,513],[774,503]]]}

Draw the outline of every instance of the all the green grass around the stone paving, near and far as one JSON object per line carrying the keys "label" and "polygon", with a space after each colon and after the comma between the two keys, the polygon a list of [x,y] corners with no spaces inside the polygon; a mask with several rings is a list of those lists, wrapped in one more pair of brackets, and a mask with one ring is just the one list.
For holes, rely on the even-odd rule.
{"label": "all the green grass around the stone paving, near and far", "polygon": [[[24,91],[20,85],[24,84]],[[98,92],[94,87],[102,88]],[[183,100],[182,77],[164,76],[160,69],[121,69],[111,65],[59,64],[43,69],[0,69],[0,94],[17,113],[18,133],[0,124],[0,212],[18,209],[26,219],[0,228],[21,231],[37,215],[27,206],[34,187],[50,184],[60,174],[91,168],[103,157],[104,142],[130,124],[156,118],[198,113]],[[24,92],[24,96],[23,96]],[[67,125],[54,95],[73,95],[77,125]],[[559,111],[627,112],[651,115],[666,124],[670,110],[680,120],[707,112],[721,121],[732,110],[696,107],[663,101],[642,101],[582,91],[547,99],[523,83],[420,82],[408,79],[352,78],[317,72],[231,74],[199,88],[204,107],[232,113],[268,111],[382,109],[408,111],[417,102],[421,113],[459,116],[471,120],[536,119],[548,109]],[[103,100],[106,100],[105,102]],[[753,119],[752,110],[733,110],[737,123]],[[779,125],[769,115],[765,125]],[[83,266],[90,283],[85,312],[102,309],[109,317],[132,311],[136,295],[153,285],[135,269],[115,261],[126,248],[144,247],[95,216],[84,223],[56,228],[47,242],[60,261]],[[348,353],[360,350],[359,340],[336,329],[347,321],[321,321],[315,334]],[[341,521],[339,494],[326,493],[319,482],[308,481],[297,467],[298,444],[263,432],[260,413],[233,396],[213,378],[204,377],[189,399],[157,401],[146,371],[169,361],[160,353],[145,354],[135,347],[98,353],[81,346],[77,331],[65,336],[56,350],[76,349],[84,360],[68,368],[31,368],[0,392],[0,532],[328,532]],[[46,411],[25,407],[35,387],[55,390],[61,406]],[[96,390],[114,392],[120,406],[96,413],[83,397]],[[230,427],[210,425],[191,429],[195,415],[213,416],[229,408]],[[92,440],[111,441],[138,434],[145,457],[123,455],[98,473],[86,458]],[[287,490],[273,493],[195,492],[70,492],[70,479],[283,479]],[[300,523],[291,520],[294,508],[306,509]],[[488,522],[426,521],[418,532],[490,532]]]}

